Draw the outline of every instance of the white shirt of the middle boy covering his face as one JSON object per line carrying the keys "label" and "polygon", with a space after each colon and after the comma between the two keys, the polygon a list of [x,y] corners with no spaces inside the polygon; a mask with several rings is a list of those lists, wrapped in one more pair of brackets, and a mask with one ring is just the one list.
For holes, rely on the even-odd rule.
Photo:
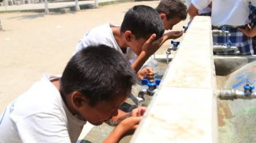
{"label": "white shirt of the middle boy covering his face", "polygon": [[[98,46],[102,44],[113,47],[115,50],[123,54],[123,51],[117,44],[117,41],[115,41],[110,23],[94,27],[86,34],[84,34],[80,41],[77,43],[75,52],[73,54],[76,54],[78,51],[86,48],[87,46]],[[131,61],[134,61],[134,58],[137,58],[133,50],[131,50],[129,47],[127,47],[126,53],[123,55],[127,60],[132,59]]]}

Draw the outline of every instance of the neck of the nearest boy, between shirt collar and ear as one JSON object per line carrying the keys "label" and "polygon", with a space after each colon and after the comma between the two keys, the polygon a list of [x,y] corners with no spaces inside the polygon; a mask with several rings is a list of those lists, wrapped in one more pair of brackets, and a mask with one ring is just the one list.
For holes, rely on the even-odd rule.
{"label": "neck of the nearest boy, between shirt collar and ear", "polygon": [[[52,80],[51,82],[55,86],[55,88],[60,92],[60,79],[57,78],[55,80]],[[64,96],[61,94],[61,98],[67,106],[69,112],[71,112],[73,115],[78,114],[71,104],[71,99],[69,99],[71,98],[71,96]]]}

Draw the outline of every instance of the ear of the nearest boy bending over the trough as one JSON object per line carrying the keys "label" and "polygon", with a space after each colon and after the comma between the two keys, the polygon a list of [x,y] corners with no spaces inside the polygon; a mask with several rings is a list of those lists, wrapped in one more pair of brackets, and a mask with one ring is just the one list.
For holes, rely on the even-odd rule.
{"label": "ear of the nearest boy bending over the trough", "polygon": [[86,97],[83,96],[80,92],[73,92],[72,93],[72,104],[75,108],[81,108],[85,103],[87,103]]}

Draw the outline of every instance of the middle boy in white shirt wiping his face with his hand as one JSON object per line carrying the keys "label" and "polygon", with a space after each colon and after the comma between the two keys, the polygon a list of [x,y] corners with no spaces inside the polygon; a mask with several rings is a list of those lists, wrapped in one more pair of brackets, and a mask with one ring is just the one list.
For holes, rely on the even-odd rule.
{"label": "middle boy in white shirt wiping his face with his hand", "polygon": [[77,43],[75,53],[87,46],[107,45],[134,59],[131,66],[139,78],[153,77],[151,68],[139,70],[143,63],[161,46],[164,26],[156,10],[145,5],[129,9],[121,27],[107,23],[88,31]]}

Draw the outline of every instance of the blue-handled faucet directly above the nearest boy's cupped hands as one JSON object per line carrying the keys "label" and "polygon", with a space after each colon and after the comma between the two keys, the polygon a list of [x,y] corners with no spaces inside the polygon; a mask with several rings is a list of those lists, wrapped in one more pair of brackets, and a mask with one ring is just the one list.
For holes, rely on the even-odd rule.
{"label": "blue-handled faucet directly above the nearest boy's cupped hands", "polygon": [[148,89],[141,89],[138,93],[138,98],[142,98],[142,101],[145,101],[144,95],[148,94],[153,96],[157,92],[157,86],[160,84],[161,80],[147,80],[146,78],[141,80],[142,85],[147,85]]}

